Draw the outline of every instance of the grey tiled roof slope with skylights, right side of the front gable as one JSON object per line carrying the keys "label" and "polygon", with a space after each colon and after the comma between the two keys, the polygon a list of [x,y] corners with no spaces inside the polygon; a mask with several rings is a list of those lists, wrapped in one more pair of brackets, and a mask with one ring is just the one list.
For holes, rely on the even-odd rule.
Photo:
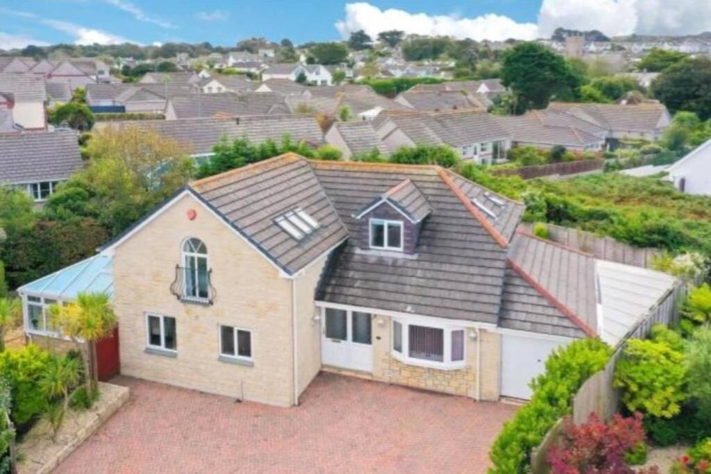
{"label": "grey tiled roof slope with skylights, right side of the front gable", "polygon": [[[191,188],[287,274],[348,237],[309,162],[293,153],[196,181]],[[274,222],[296,208],[319,222],[301,240]]]}

